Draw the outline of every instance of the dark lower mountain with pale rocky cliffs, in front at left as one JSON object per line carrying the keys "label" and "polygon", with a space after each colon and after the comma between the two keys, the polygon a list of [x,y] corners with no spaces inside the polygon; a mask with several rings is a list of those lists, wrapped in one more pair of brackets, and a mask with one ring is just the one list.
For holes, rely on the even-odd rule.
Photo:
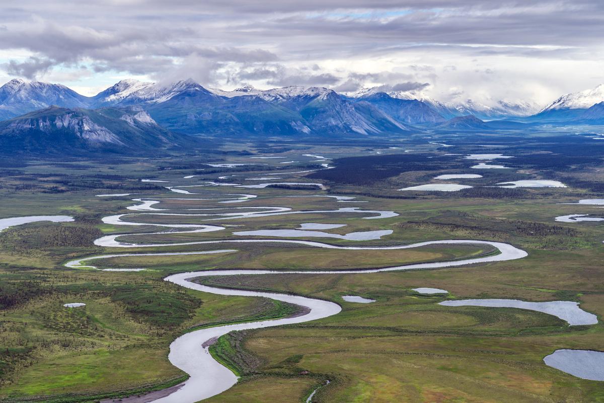
{"label": "dark lower mountain with pale rocky cliffs, in front at left", "polygon": [[166,131],[141,109],[46,109],[0,122],[0,150],[60,155],[155,154],[196,139]]}

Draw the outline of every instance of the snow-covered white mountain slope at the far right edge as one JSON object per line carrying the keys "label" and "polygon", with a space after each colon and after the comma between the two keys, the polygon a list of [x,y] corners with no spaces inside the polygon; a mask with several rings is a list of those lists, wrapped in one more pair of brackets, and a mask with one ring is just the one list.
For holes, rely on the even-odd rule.
{"label": "snow-covered white mountain slope at the far right edge", "polygon": [[562,95],[550,105],[545,106],[535,120],[576,120],[592,106],[604,101],[604,84],[585,91]]}

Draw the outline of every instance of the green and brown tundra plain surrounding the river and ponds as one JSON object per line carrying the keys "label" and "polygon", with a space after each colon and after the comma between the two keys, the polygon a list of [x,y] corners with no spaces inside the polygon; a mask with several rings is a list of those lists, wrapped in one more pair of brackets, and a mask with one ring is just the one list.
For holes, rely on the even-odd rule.
{"label": "green and brown tundra plain surrounding the river and ponds", "polygon": [[[454,153],[486,152],[475,144],[487,144],[492,138],[478,134],[475,137],[459,137]],[[468,168],[473,162],[461,157],[428,158],[451,150],[441,150],[423,138],[413,137],[400,140],[415,152],[406,155],[389,150],[389,146],[399,145],[390,140],[371,144],[359,140],[346,147],[325,141],[321,147],[312,148],[265,139],[259,144],[223,144],[222,149],[232,152],[201,158],[191,152],[148,160],[121,156],[107,161],[0,161],[2,217],[69,214],[76,218],[75,222],[37,222],[0,233],[0,398],[4,399],[0,401],[92,402],[158,390],[186,377],[167,360],[169,345],[178,335],[202,327],[300,313],[296,306],[266,298],[226,297],[184,289],[165,282],[163,278],[168,274],[216,268],[376,268],[493,253],[484,245],[355,251],[277,243],[217,243],[126,250],[96,247],[92,243],[106,234],[134,234],[122,239],[159,244],[237,239],[240,237],[232,231],[292,229],[301,222],[320,222],[346,224],[329,230],[338,234],[394,231],[382,240],[358,242],[359,245],[481,239],[512,243],[527,250],[529,256],[466,268],[379,274],[199,277],[196,281],[204,285],[289,292],[332,300],[342,306],[340,314],[323,320],[235,332],[219,338],[211,346],[211,353],[242,376],[242,382],[208,402],[299,403],[327,379],[330,384],[318,390],[313,402],[604,402],[600,382],[574,378],[542,363],[545,355],[559,348],[604,350],[602,324],[568,327],[557,318],[538,312],[437,305],[446,298],[572,300],[600,318],[604,315],[604,256],[600,248],[604,225],[553,221],[555,216],[597,213],[589,206],[561,203],[602,198],[597,193],[604,189],[600,154],[590,151],[591,155],[586,155],[582,151],[583,140],[571,136],[542,134],[538,138],[512,134],[501,141],[508,146],[506,154],[515,157],[506,160],[506,165],[515,169],[478,172],[483,178],[467,182],[475,189],[448,194],[396,191],[403,185],[431,181],[442,173],[477,173]],[[392,155],[386,155],[384,160],[384,156],[367,157],[368,147]],[[240,176],[225,180],[240,182],[248,175],[262,176],[263,172],[318,168],[312,162],[284,167],[278,160],[263,161],[266,166],[233,169],[204,166],[208,161],[257,163],[258,160],[249,159],[249,150],[284,152],[288,161],[299,159],[302,153],[355,159],[342,160],[343,165],[336,161],[338,169],[312,174],[313,182],[326,182],[327,192],[306,186],[268,187],[249,192],[259,197],[233,205],[194,200],[205,196],[175,196],[160,185],[140,181],[181,181],[183,176],[203,175],[188,179],[195,184],[234,172]],[[288,178],[303,182],[307,180],[303,175],[306,174]],[[569,187],[486,187],[521,178],[556,179]],[[248,192],[219,186],[194,189],[208,198],[219,198],[225,192]],[[236,212],[240,207],[271,205],[294,210],[359,207],[393,210],[400,215],[365,220],[364,214],[356,213],[284,214],[207,222],[204,216],[135,214],[130,218],[148,225],[126,227],[101,223],[103,216],[137,213],[126,210],[133,204],[129,198],[95,196],[106,193],[137,193],[132,197],[161,199],[153,207],[176,213],[187,213],[189,208]],[[317,194],[353,195],[368,203],[283,197]],[[154,223],[175,222],[237,227],[207,233],[141,235],[162,230]],[[317,240],[351,244],[338,239]],[[114,257],[94,263],[100,268],[147,268],[140,272],[62,266],[67,260],[98,254],[219,248],[236,252]],[[419,295],[412,291],[417,287],[443,288],[450,294]],[[376,302],[347,303],[341,299],[347,294],[370,297]],[[83,302],[86,306],[63,308],[68,302]]]}

